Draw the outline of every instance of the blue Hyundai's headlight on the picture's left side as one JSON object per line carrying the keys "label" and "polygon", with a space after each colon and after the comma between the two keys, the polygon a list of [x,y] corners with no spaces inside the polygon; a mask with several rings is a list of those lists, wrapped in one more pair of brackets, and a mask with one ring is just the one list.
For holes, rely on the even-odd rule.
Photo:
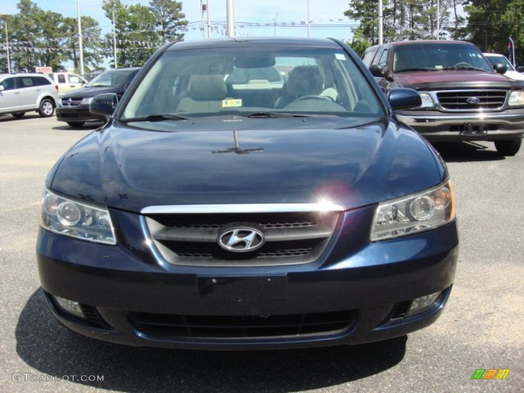
{"label": "blue Hyundai's headlight on the picture's left side", "polygon": [[47,189],[42,196],[40,225],[65,236],[116,244],[113,223],[107,209],[63,198]]}

